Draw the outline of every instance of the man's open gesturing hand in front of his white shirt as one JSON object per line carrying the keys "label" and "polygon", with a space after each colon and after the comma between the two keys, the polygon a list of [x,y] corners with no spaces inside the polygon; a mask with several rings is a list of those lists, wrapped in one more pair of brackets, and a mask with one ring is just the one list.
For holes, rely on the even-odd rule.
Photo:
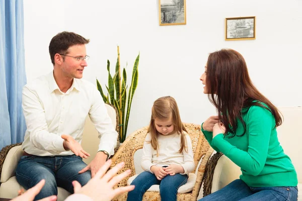
{"label": "man's open gesturing hand in front of his white shirt", "polygon": [[70,150],[76,156],[80,156],[82,158],[88,158],[90,156],[89,153],[84,151],[80,143],[75,141],[70,135],[61,135],[61,138],[64,139],[63,147],[66,151]]}

